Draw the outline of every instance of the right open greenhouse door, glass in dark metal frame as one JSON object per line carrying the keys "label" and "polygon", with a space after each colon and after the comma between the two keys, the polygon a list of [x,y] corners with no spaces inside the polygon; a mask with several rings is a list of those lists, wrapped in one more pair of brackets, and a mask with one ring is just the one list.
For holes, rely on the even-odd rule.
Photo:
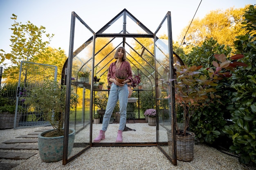
{"label": "right open greenhouse door, glass in dark metal frame", "polygon": [[157,146],[177,165],[175,137],[175,96],[171,12],[168,12],[154,35],[155,86],[157,110]]}

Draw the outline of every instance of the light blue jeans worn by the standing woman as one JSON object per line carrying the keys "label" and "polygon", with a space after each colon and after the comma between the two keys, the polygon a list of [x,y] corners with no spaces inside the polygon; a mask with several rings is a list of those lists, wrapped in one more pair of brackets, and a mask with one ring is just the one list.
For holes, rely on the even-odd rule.
{"label": "light blue jeans worn by the standing woman", "polygon": [[114,111],[117,101],[119,100],[119,113],[120,113],[120,122],[119,129],[123,131],[126,125],[126,108],[128,103],[128,88],[127,83],[120,87],[112,83],[110,93],[108,96],[108,104],[102,121],[102,131],[107,131],[110,117]]}

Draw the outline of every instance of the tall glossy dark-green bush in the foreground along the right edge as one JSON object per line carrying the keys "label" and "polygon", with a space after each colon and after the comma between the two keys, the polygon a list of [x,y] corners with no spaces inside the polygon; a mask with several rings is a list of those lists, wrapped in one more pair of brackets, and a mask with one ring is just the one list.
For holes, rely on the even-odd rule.
{"label": "tall glossy dark-green bush in the foreground along the right edge", "polygon": [[241,163],[256,163],[256,9],[253,5],[245,13],[245,28],[248,33],[238,37],[235,41],[238,52],[245,55],[240,59],[247,63],[247,67],[241,67],[233,72],[234,81],[231,85],[236,92],[233,93],[234,105],[232,122],[225,126],[224,133],[233,139],[232,152],[238,154]]}

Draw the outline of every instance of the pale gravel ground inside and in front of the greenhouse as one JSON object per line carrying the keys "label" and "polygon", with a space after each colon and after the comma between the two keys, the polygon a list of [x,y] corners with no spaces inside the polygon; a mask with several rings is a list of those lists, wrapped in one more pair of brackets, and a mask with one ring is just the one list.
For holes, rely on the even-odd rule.
{"label": "pale gravel ground inside and in front of the greenhouse", "polygon": [[[119,124],[110,124],[106,139],[101,142],[115,142]],[[124,142],[155,142],[155,126],[145,123],[127,124],[136,131],[123,132]],[[43,129],[34,127],[26,129],[0,130],[0,142],[14,139],[19,135]],[[93,135],[96,137],[101,124],[93,124]],[[86,129],[85,129],[86,130]],[[161,133],[161,132],[160,132]],[[86,138],[81,131],[76,135],[76,141]],[[146,139],[146,140],[145,140]],[[75,150],[73,148],[73,150]],[[18,163],[12,170],[255,170],[254,166],[245,166],[238,162],[237,157],[227,155],[204,144],[195,145],[194,159],[190,162],[177,161],[177,166],[166,158],[157,147],[92,147],[82,155],[63,166],[62,161],[45,163],[39,154],[26,160],[0,159],[0,163]],[[0,150],[7,151],[7,150]],[[21,152],[19,150],[8,150]],[[22,150],[22,152],[38,153],[38,150]],[[75,152],[75,151],[74,151]],[[1,168],[0,168],[1,169]]]}

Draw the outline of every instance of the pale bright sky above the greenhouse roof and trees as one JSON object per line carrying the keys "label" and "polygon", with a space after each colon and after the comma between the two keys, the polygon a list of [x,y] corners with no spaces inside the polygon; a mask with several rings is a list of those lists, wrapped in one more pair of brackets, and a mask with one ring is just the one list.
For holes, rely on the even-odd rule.
{"label": "pale bright sky above the greenhouse roof and trees", "polygon": [[17,22],[22,24],[30,21],[38,27],[44,26],[46,33],[55,34],[49,46],[60,47],[68,54],[72,11],[97,32],[126,9],[153,33],[166,13],[171,11],[173,40],[177,41],[182,29],[190,24],[194,15],[201,19],[213,10],[256,4],[255,0],[200,2],[201,0],[0,0],[0,49],[5,52],[11,50],[9,39],[12,31],[9,28],[13,24],[12,14],[17,15]]}

